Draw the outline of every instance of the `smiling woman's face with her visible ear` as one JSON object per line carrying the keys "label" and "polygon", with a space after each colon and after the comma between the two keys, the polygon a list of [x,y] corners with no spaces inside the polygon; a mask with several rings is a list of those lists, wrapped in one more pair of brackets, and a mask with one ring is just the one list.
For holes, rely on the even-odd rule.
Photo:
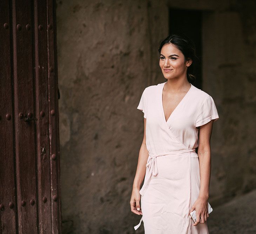
{"label": "smiling woman's face with her visible ear", "polygon": [[165,44],[161,49],[159,65],[162,69],[163,76],[166,79],[187,77],[187,68],[192,61],[185,61],[182,52],[173,44]]}

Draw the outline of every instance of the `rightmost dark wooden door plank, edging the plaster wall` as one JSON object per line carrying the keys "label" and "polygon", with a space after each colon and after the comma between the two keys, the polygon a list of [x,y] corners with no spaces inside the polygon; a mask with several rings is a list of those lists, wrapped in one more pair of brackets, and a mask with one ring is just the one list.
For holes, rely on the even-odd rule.
{"label": "rightmost dark wooden door plank, edging the plaster wall", "polygon": [[58,66],[55,4],[55,1],[47,0],[49,140],[51,155],[52,233],[61,233]]}

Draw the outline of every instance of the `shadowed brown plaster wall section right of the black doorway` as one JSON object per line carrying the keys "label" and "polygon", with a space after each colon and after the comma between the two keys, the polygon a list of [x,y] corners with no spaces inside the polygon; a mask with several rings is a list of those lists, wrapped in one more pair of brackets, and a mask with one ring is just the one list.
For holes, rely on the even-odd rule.
{"label": "shadowed brown plaster wall section right of the black doorway", "polygon": [[204,14],[203,87],[220,115],[213,132],[213,204],[256,187],[255,9],[252,1],[233,2]]}

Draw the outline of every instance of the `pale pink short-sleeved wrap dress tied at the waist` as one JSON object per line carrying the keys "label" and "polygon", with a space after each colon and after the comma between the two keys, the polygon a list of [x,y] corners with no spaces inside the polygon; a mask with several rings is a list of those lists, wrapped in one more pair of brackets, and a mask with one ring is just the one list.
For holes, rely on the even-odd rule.
{"label": "pale pink short-sleeved wrap dress tied at the waist", "polygon": [[166,121],[164,84],[146,87],[137,109],[146,122],[149,152],[140,189],[145,234],[208,234],[207,222],[193,226],[189,210],[200,191],[198,129],[219,118],[213,98],[191,84],[189,91]]}

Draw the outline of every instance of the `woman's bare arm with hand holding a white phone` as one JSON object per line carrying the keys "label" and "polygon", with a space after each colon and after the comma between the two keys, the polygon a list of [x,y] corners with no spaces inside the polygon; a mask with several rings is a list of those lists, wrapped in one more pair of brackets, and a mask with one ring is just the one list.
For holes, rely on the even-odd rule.
{"label": "woman's bare arm with hand holding a white phone", "polygon": [[208,198],[211,176],[211,146],[210,139],[213,130],[213,120],[200,126],[199,129],[199,144],[198,144],[198,160],[200,167],[200,192],[197,200],[191,207],[190,212],[196,209],[197,221],[193,224],[204,223],[209,217],[208,214]]}

